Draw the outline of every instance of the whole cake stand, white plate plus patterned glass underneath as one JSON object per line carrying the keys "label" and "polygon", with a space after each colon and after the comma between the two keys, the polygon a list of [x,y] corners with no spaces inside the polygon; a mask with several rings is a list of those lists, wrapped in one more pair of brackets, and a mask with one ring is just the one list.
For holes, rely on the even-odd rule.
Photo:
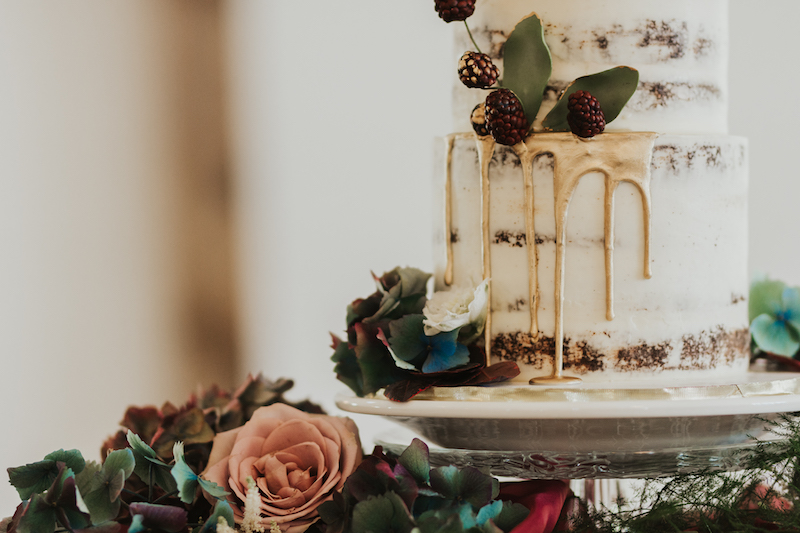
{"label": "whole cake stand, white plate plus patterned glass underneath", "polygon": [[[682,387],[443,388],[405,403],[339,394],[336,404],[412,430],[436,466],[523,479],[641,479],[738,470],[764,448],[780,450],[774,430],[800,412],[800,374],[751,372],[735,383]],[[397,435],[376,444],[399,453],[413,434]]]}

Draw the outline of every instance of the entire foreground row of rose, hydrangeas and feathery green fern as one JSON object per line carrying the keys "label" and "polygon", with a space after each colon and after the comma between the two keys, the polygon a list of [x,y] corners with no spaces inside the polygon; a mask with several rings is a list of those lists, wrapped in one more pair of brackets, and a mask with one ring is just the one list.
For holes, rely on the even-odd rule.
{"label": "entire foreground row of rose, hydrangeas and feathery green fern", "polygon": [[250,377],[180,408],[131,407],[102,462],[58,450],[9,468],[23,501],[0,532],[800,531],[794,418],[775,429],[781,446],[764,444],[741,472],[650,481],[610,510],[588,507],[564,481],[433,467],[416,439],[399,456],[380,447],[364,456],[351,420],[291,404],[291,385]]}

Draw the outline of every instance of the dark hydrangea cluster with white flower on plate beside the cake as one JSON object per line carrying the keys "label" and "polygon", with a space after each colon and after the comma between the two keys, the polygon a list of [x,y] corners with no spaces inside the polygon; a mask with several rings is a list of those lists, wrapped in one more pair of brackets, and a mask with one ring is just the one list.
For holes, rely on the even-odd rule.
{"label": "dark hydrangea cluster with white flower on plate beside the cake", "polygon": [[359,396],[384,389],[406,401],[433,386],[492,383],[519,374],[514,362],[486,365],[482,333],[488,280],[427,298],[431,275],[397,267],[377,290],[347,307],[347,340],[333,338],[336,377]]}

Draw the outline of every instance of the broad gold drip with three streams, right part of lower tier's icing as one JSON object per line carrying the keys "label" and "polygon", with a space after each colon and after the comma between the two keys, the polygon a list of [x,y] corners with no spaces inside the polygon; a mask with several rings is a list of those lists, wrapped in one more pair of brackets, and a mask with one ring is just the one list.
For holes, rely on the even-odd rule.
{"label": "broad gold drip with three streams, right part of lower tier's icing", "polygon": [[[533,159],[553,154],[553,190],[555,195],[556,269],[555,269],[555,356],[549,377],[534,378],[532,383],[574,381],[563,375],[564,368],[564,271],[566,261],[567,214],[569,203],[580,179],[591,172],[605,176],[605,256],[606,315],[613,317],[613,236],[614,192],[622,181],[636,185],[642,195],[645,219],[645,277],[650,277],[650,160],[656,134],[615,133],[583,140],[569,133],[533,135],[526,141]],[[531,213],[532,216],[532,213]],[[535,246],[535,240],[530,239]],[[533,306],[532,302],[532,313]],[[610,315],[609,315],[610,314]]]}

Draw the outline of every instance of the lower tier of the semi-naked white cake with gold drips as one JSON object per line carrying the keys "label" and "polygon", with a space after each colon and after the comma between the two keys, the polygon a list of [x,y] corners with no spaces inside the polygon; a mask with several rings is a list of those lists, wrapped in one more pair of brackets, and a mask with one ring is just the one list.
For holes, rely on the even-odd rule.
{"label": "lower tier of the semi-naked white cake with gold drips", "polygon": [[[560,285],[565,374],[594,381],[746,371],[744,139],[536,134],[515,152],[464,134],[447,146],[451,182],[436,188],[445,193],[437,205],[449,197],[450,224],[442,209],[436,287],[446,287],[447,241],[453,285],[477,284],[489,272],[492,357],[520,363],[520,381],[552,371]],[[561,279],[558,214],[566,232]]]}

